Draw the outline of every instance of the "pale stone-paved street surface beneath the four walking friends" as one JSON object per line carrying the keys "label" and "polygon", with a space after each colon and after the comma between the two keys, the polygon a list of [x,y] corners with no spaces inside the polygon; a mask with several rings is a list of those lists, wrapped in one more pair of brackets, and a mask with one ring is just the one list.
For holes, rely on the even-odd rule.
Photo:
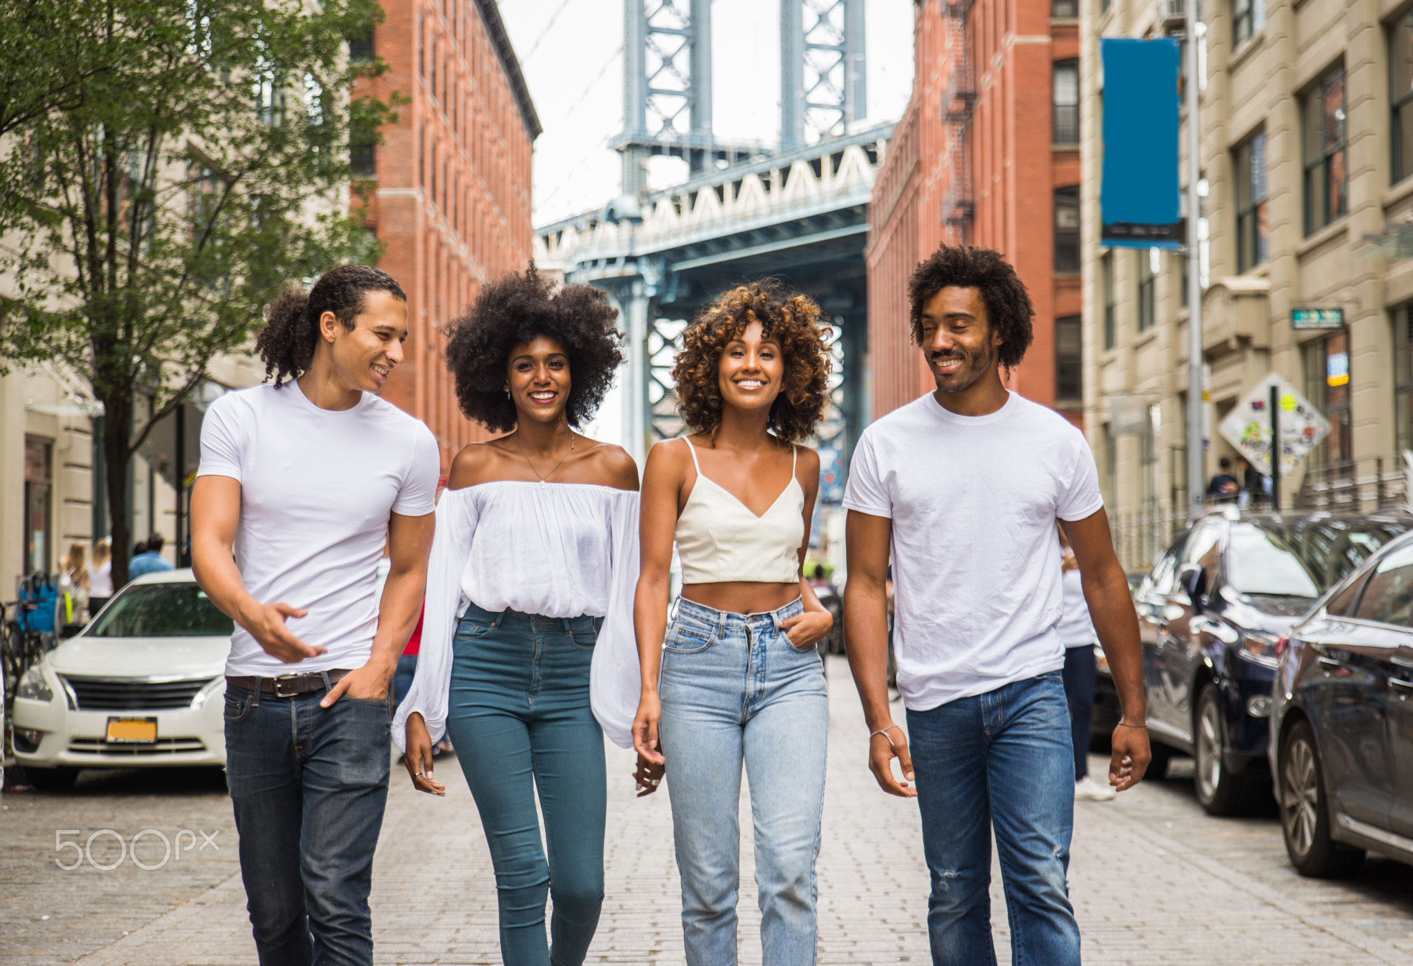
{"label": "pale stone-paved street surface beneath the four walking friends", "polygon": [[[829,775],[818,867],[820,962],[930,962],[927,871],[917,808],[882,794],[875,785],[865,767],[868,733],[848,667],[842,660],[831,660],[828,669]],[[897,715],[901,720],[901,709]],[[667,795],[633,798],[632,767],[632,753],[609,749],[608,897],[589,962],[682,963]],[[414,792],[406,773],[394,768],[372,900],[376,958],[379,963],[499,963],[495,877],[475,804],[455,763],[441,764],[438,773],[449,788],[445,799]],[[1071,893],[1088,962],[1413,963],[1413,924],[1396,922],[1382,931],[1362,928],[1355,922],[1358,917],[1291,898],[1289,890],[1222,861],[1219,852],[1164,835],[1163,826],[1142,816],[1160,805],[1183,806],[1180,798],[1177,805],[1166,804],[1167,799],[1174,799],[1174,792],[1163,785],[1140,785],[1116,802],[1085,802],[1075,809]],[[1263,835],[1269,852],[1269,829]],[[760,963],[760,915],[755,904],[745,795],[742,850],[740,960]],[[993,878],[996,952],[1000,962],[1009,962],[999,870]],[[1402,915],[1395,910],[1389,914]],[[256,963],[240,877],[223,881],[79,962],[85,966]]]}

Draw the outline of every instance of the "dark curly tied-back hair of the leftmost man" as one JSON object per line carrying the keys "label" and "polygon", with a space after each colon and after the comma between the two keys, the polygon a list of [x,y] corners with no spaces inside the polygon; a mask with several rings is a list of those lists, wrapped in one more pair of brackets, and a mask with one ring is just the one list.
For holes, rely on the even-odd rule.
{"label": "dark curly tied-back hair of the leftmost man", "polygon": [[352,332],[363,311],[365,292],[389,292],[407,302],[407,292],[397,280],[372,266],[339,266],[319,275],[308,292],[295,285],[280,292],[266,309],[266,325],[256,336],[256,354],[266,364],[266,378],[274,376],[274,386],[280,388],[285,380],[298,378],[309,369],[325,312],[333,312]]}

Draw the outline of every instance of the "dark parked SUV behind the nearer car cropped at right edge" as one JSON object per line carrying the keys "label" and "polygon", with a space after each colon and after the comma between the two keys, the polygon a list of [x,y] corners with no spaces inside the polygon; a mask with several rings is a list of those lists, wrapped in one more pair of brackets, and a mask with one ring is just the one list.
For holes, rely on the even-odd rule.
{"label": "dark parked SUV behind the nearer car cropped at right edge", "polygon": [[1332,585],[1406,528],[1400,517],[1200,517],[1135,593],[1143,638],[1150,770],[1195,760],[1212,815],[1248,811],[1270,788],[1267,719],[1276,641]]}

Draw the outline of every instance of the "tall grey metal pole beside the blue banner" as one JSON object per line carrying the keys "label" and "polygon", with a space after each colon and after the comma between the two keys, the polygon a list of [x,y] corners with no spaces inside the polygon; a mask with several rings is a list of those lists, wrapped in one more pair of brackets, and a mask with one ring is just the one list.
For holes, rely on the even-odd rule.
{"label": "tall grey metal pole beside the blue banner", "polygon": [[1197,137],[1197,1],[1184,0],[1187,30],[1187,515],[1202,510],[1202,278],[1198,239],[1198,193],[1201,179]]}

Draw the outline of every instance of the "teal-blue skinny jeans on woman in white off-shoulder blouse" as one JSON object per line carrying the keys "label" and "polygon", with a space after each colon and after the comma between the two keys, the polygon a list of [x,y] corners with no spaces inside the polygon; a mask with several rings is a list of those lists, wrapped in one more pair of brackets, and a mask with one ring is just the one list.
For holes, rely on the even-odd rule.
{"label": "teal-blue skinny jeans on woman in white off-shoulder blouse", "polygon": [[596,637],[592,617],[476,604],[456,627],[447,732],[490,846],[506,966],[578,966],[599,925],[608,774],[589,710]]}

